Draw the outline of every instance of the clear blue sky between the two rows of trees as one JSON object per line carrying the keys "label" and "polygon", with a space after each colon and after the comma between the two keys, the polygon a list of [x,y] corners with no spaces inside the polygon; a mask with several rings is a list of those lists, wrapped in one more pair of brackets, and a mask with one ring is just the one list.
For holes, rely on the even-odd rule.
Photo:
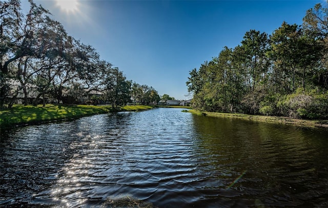
{"label": "clear blue sky between the two rows of trees", "polygon": [[[63,0],[63,2],[68,0]],[[245,32],[271,34],[283,21],[302,24],[306,10],[324,1],[106,1],[81,0],[67,12],[52,0],[34,0],[69,35],[93,46],[128,80],[160,96],[188,99],[189,71],[234,48]],[[26,9],[26,1],[22,1]]]}

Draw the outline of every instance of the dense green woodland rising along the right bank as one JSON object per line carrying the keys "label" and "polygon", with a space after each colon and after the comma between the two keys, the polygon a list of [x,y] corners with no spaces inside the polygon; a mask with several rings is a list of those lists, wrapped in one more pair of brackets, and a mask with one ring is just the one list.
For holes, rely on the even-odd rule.
{"label": "dense green woodland rising along the right bank", "polygon": [[309,9],[303,25],[250,30],[235,48],[190,71],[193,107],[294,118],[328,117],[328,8]]}

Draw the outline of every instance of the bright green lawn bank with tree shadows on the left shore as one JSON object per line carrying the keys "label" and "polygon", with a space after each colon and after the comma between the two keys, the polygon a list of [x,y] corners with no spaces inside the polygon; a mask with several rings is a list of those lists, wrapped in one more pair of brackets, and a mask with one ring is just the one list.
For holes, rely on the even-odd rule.
{"label": "bright green lawn bank with tree shadows on the left shore", "polygon": [[26,124],[45,123],[76,119],[84,116],[107,114],[118,111],[146,110],[151,106],[136,105],[112,108],[111,106],[92,105],[14,105],[11,109],[0,111],[0,127],[11,127]]}

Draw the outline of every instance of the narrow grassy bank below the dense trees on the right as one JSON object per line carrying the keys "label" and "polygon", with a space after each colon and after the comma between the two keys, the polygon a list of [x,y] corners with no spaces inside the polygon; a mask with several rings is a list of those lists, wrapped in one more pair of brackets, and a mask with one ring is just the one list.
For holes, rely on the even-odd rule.
{"label": "narrow grassy bank below the dense trees on the right", "polygon": [[282,124],[292,124],[304,127],[324,127],[328,128],[328,120],[303,120],[303,119],[293,119],[288,117],[275,117],[275,116],[259,116],[259,115],[247,115],[247,114],[227,114],[221,112],[203,112],[199,110],[189,110],[192,114],[206,115],[211,117],[221,117],[221,118],[236,118],[244,120],[254,120],[262,121],[268,123],[282,123]]}

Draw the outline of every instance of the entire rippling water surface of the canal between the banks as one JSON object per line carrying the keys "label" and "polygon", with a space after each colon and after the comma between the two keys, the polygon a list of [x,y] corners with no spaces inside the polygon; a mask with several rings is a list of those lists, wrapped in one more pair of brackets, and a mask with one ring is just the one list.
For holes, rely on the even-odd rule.
{"label": "entire rippling water surface of the canal between the banks", "polygon": [[174,108],[19,128],[1,133],[0,206],[324,207],[327,133]]}

